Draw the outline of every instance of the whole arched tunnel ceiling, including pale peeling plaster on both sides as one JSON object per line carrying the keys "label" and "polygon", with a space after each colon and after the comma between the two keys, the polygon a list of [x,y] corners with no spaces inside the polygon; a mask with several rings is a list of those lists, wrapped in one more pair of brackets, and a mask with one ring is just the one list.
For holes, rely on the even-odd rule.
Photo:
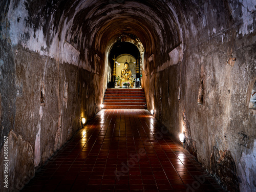
{"label": "whole arched tunnel ceiling, including pale peeling plaster on both sides", "polygon": [[94,68],[95,58],[105,60],[120,39],[164,63],[181,43],[203,41],[229,25],[229,6],[236,6],[194,0],[5,0],[3,5],[13,44],[84,69]]}

